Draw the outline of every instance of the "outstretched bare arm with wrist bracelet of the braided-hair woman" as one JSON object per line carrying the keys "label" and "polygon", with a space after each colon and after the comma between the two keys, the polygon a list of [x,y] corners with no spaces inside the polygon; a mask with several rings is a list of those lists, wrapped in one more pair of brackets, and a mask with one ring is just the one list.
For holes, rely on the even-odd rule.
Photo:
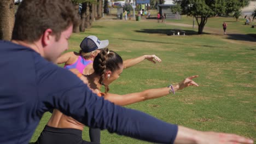
{"label": "outstretched bare arm with wrist bracelet of the braided-hair woman", "polygon": [[[192,79],[198,77],[196,76],[191,76],[188,77],[187,79],[179,82],[179,84],[173,86],[173,91],[178,91],[180,89],[183,89],[188,86],[199,86],[197,85],[196,82],[194,82]],[[117,105],[129,105],[133,103],[137,103],[139,101],[144,101],[148,99],[155,99],[162,97],[164,95],[167,95],[169,93],[172,93],[171,87],[164,87],[164,88],[155,88],[155,89],[147,89],[146,91],[138,92],[138,93],[130,93],[130,94],[125,94],[125,95],[119,95],[119,94],[112,94],[112,93],[107,93],[105,95],[105,99],[111,101],[114,104]]]}

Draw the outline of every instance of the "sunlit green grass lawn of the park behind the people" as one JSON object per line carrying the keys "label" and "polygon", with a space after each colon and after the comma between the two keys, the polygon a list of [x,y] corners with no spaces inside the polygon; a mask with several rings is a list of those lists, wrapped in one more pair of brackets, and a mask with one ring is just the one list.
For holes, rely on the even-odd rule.
{"label": "sunlit green grass lawn of the park behind the people", "polygon": [[[214,17],[207,27],[255,34],[232,18]],[[168,22],[168,21],[167,21]],[[191,24],[191,17],[177,23]],[[236,40],[229,35],[202,34],[181,27],[191,35],[169,36],[177,26],[156,21],[96,21],[84,33],[72,34],[70,51],[78,51],[80,41],[88,35],[109,39],[110,50],[123,59],[155,54],[162,63],[144,61],[125,69],[120,79],[110,85],[110,93],[126,94],[149,88],[166,87],[185,77],[199,75],[200,87],[189,87],[165,97],[143,101],[126,107],[140,110],[169,123],[197,130],[235,133],[256,140],[256,42]],[[238,29],[238,30],[237,30]],[[31,141],[36,141],[50,113],[45,113]],[[83,139],[89,141],[88,128]],[[148,143],[102,131],[102,143]]]}

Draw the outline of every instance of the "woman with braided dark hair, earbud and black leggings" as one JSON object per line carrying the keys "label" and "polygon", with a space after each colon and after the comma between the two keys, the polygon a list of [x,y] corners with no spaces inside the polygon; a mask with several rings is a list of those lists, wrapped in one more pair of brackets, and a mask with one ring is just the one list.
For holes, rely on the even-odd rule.
{"label": "woman with braided dark hair, earbud and black leggings", "polygon": [[[99,97],[104,97],[104,99],[121,106],[148,99],[159,98],[170,93],[174,94],[176,91],[191,85],[198,86],[197,83],[192,80],[197,76],[191,76],[174,86],[170,85],[164,88],[148,89],[146,91],[124,95],[112,94],[108,93],[108,85],[110,85],[114,80],[117,80],[123,72],[123,59],[114,51],[102,49],[95,57],[93,67],[95,71],[90,75],[82,75],[77,69],[72,69],[72,72],[77,74],[93,92],[97,93]],[[104,93],[100,91],[101,86],[105,87]],[[82,135],[84,126],[85,125],[79,123],[74,118],[66,116],[59,110],[55,109],[37,142],[40,144],[81,142],[83,140],[80,135]],[[74,136],[75,134],[70,131],[77,131],[73,133],[78,133],[76,135],[79,136]],[[94,143],[100,143],[101,130],[90,128],[89,131],[91,141]],[[86,141],[83,142],[86,143]]]}

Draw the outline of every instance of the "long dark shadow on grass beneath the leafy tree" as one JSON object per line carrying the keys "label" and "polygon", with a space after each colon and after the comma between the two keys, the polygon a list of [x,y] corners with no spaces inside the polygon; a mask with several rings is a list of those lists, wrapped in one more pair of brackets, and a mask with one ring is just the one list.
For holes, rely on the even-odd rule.
{"label": "long dark shadow on grass beneath the leafy tree", "polygon": [[[184,29],[178,29],[178,28],[174,28],[174,29],[141,29],[141,30],[136,30],[135,32],[138,33],[159,33],[159,34],[166,34],[166,35],[177,35],[179,31],[179,35],[183,35],[185,32],[185,35],[195,35],[197,34],[196,31],[191,31],[191,30],[184,30]],[[184,31],[184,32],[182,32]],[[203,34],[210,34],[210,33],[203,33]],[[173,35],[173,36],[174,36]]]}

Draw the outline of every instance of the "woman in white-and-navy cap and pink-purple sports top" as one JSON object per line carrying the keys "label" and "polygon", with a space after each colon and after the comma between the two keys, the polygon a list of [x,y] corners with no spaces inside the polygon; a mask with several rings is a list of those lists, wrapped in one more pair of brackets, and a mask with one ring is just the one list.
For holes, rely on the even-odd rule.
{"label": "woman in white-and-navy cap and pink-purple sports top", "polygon": [[[94,69],[92,68],[94,58],[97,56],[98,52],[100,52],[99,49],[106,48],[108,44],[108,40],[99,40],[96,36],[89,35],[84,38],[80,44],[81,50],[79,53],[67,52],[57,59],[57,64],[65,63],[65,69],[78,69],[80,73],[84,75],[92,74],[94,72]],[[155,63],[153,59],[162,62],[161,59],[155,55],[143,55],[124,61],[124,69],[142,62],[144,59],[148,59],[148,61],[153,63]]]}

